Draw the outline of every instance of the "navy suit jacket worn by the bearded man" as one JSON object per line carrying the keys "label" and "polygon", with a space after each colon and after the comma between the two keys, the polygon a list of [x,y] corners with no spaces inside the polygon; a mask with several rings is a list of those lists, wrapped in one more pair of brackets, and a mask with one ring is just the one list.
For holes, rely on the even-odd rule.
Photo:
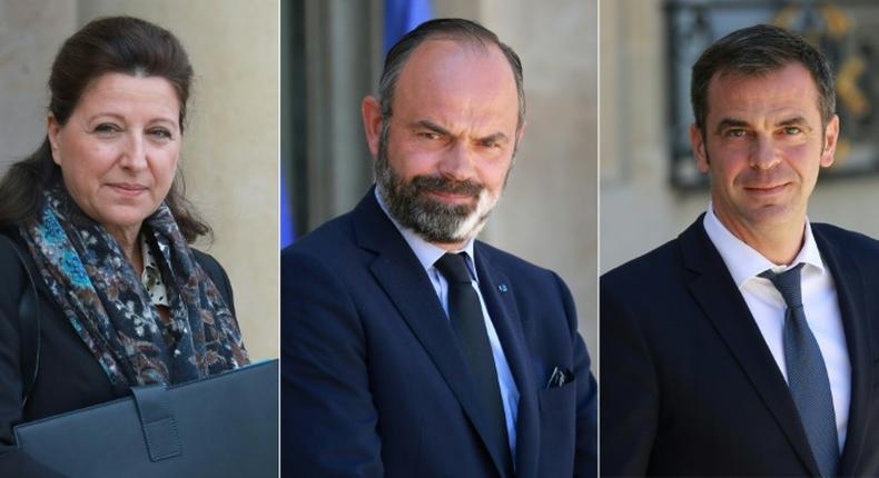
{"label": "navy suit jacket worn by the bearded man", "polygon": [[[517,476],[593,476],[596,390],[567,288],[485,243],[476,242],[475,256],[521,395]],[[502,476],[453,333],[424,268],[372,190],[353,212],[287,248],[284,476]],[[575,380],[545,389],[556,366]]]}

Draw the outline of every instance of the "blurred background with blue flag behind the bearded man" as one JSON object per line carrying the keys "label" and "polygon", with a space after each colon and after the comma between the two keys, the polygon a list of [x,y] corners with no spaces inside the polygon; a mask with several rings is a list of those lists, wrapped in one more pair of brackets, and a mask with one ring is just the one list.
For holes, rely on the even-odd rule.
{"label": "blurred background with blue flag behind the bearded man", "polygon": [[282,2],[282,242],[347,212],[366,193],[373,160],[361,100],[376,91],[386,49],[441,17],[481,22],[522,58],[527,130],[481,238],[562,276],[595,359],[595,0]]}

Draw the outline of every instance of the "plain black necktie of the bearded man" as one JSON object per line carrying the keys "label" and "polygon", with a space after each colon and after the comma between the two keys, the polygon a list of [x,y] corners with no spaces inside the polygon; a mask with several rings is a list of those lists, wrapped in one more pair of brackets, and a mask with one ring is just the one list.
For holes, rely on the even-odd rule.
{"label": "plain black necktie of the bearded man", "polygon": [[485,330],[482,303],[471,283],[465,259],[465,252],[446,253],[434,266],[448,282],[448,318],[487,418],[490,446],[501,452],[504,467],[510,472],[512,459],[497,370]]}

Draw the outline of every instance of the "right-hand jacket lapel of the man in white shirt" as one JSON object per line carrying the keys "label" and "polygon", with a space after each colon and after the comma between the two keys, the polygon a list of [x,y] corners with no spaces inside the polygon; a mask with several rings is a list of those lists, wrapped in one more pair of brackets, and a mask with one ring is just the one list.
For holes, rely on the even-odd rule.
{"label": "right-hand jacket lapel of the man in white shirt", "polygon": [[833,275],[837,289],[839,312],[846,331],[846,346],[851,362],[851,402],[849,405],[846,445],[840,458],[839,475],[853,476],[866,439],[868,415],[872,396],[872,350],[870,349],[870,322],[863,298],[867,291],[858,263],[845,255],[838,245],[824,236],[820,225],[812,226],[814,240],[821,251],[821,259]]}

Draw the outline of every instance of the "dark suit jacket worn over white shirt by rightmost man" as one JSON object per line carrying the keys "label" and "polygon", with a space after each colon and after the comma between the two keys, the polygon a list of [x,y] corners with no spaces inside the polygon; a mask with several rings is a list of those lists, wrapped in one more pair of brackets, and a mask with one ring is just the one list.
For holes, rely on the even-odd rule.
{"label": "dark suit jacket worn over white shirt by rightmost man", "polygon": [[[879,475],[879,242],[812,225],[851,360],[841,476]],[[601,472],[818,475],[787,384],[702,227],[601,279]]]}

